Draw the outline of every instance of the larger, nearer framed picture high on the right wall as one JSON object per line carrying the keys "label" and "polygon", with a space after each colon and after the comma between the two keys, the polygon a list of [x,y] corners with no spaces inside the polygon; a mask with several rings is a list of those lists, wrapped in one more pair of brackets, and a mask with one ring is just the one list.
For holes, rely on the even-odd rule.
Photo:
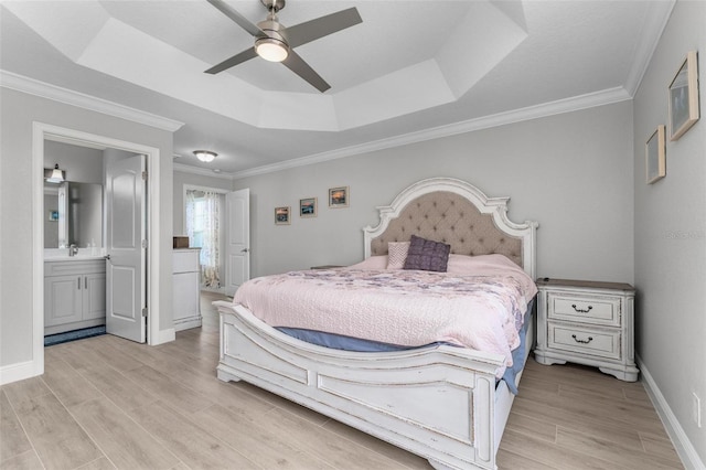
{"label": "larger, nearer framed picture high on the right wall", "polygon": [[698,55],[691,51],[670,84],[670,140],[682,137],[698,117]]}

